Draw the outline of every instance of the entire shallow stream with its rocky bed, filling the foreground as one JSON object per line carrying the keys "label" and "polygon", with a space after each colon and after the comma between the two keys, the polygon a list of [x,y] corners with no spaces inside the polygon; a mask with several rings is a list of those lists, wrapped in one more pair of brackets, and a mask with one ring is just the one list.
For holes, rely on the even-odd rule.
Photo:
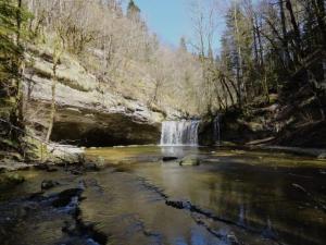
{"label": "entire shallow stream with its rocky bed, filling the foreground", "polygon": [[154,146],[86,156],[10,173],[2,244],[324,244],[325,160]]}

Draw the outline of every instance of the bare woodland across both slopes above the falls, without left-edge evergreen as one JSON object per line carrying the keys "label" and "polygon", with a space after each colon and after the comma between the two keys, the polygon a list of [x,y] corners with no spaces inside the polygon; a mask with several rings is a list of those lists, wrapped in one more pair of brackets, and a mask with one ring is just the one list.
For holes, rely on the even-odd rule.
{"label": "bare woodland across both slopes above the falls, without left-edge evergreen", "polygon": [[[216,0],[191,0],[195,35],[177,48],[160,44],[133,0],[125,14],[118,0],[25,3],[34,14],[29,33],[50,47],[64,40],[65,51],[96,75],[99,90],[185,115],[246,108],[256,97],[267,103],[269,94],[285,94],[291,84],[297,90],[308,85],[324,103],[325,62],[312,58],[325,51],[323,0],[234,0],[226,10]],[[217,37],[222,12],[226,28]]]}

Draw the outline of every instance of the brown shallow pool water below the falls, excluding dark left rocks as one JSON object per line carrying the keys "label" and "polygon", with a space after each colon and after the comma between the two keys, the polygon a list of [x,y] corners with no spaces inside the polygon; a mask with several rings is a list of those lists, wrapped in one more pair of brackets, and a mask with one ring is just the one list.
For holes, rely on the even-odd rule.
{"label": "brown shallow pool water below the falls, excluding dark left rocks", "polygon": [[[201,164],[161,161],[189,155]],[[108,244],[326,242],[325,161],[275,151],[155,146],[89,149],[87,156],[108,168],[82,176],[27,171],[26,184],[8,196],[35,192],[43,179],[63,186],[83,181],[82,218],[106,234]],[[51,229],[48,236],[59,236]],[[43,236],[34,244],[51,244]]]}

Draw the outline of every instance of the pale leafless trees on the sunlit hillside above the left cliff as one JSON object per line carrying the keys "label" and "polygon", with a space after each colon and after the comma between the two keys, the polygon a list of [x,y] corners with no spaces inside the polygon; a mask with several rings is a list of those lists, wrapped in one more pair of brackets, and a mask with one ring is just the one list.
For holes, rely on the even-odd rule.
{"label": "pale leafless trees on the sunlit hillside above the left cliff", "polygon": [[162,111],[202,112],[197,106],[201,68],[196,56],[160,44],[134,1],[125,15],[117,0],[30,0],[26,4],[35,16],[29,29],[36,39],[49,47],[58,36],[64,39],[65,51],[96,75],[99,90],[114,90]]}

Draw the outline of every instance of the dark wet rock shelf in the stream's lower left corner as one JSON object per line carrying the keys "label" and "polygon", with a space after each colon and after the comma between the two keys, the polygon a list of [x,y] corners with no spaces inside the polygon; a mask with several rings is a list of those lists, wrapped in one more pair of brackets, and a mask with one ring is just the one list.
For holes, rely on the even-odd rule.
{"label": "dark wet rock shelf in the stream's lower left corner", "polygon": [[1,244],[105,244],[106,235],[84,222],[79,208],[96,182],[78,176],[98,170],[84,163],[1,173]]}

